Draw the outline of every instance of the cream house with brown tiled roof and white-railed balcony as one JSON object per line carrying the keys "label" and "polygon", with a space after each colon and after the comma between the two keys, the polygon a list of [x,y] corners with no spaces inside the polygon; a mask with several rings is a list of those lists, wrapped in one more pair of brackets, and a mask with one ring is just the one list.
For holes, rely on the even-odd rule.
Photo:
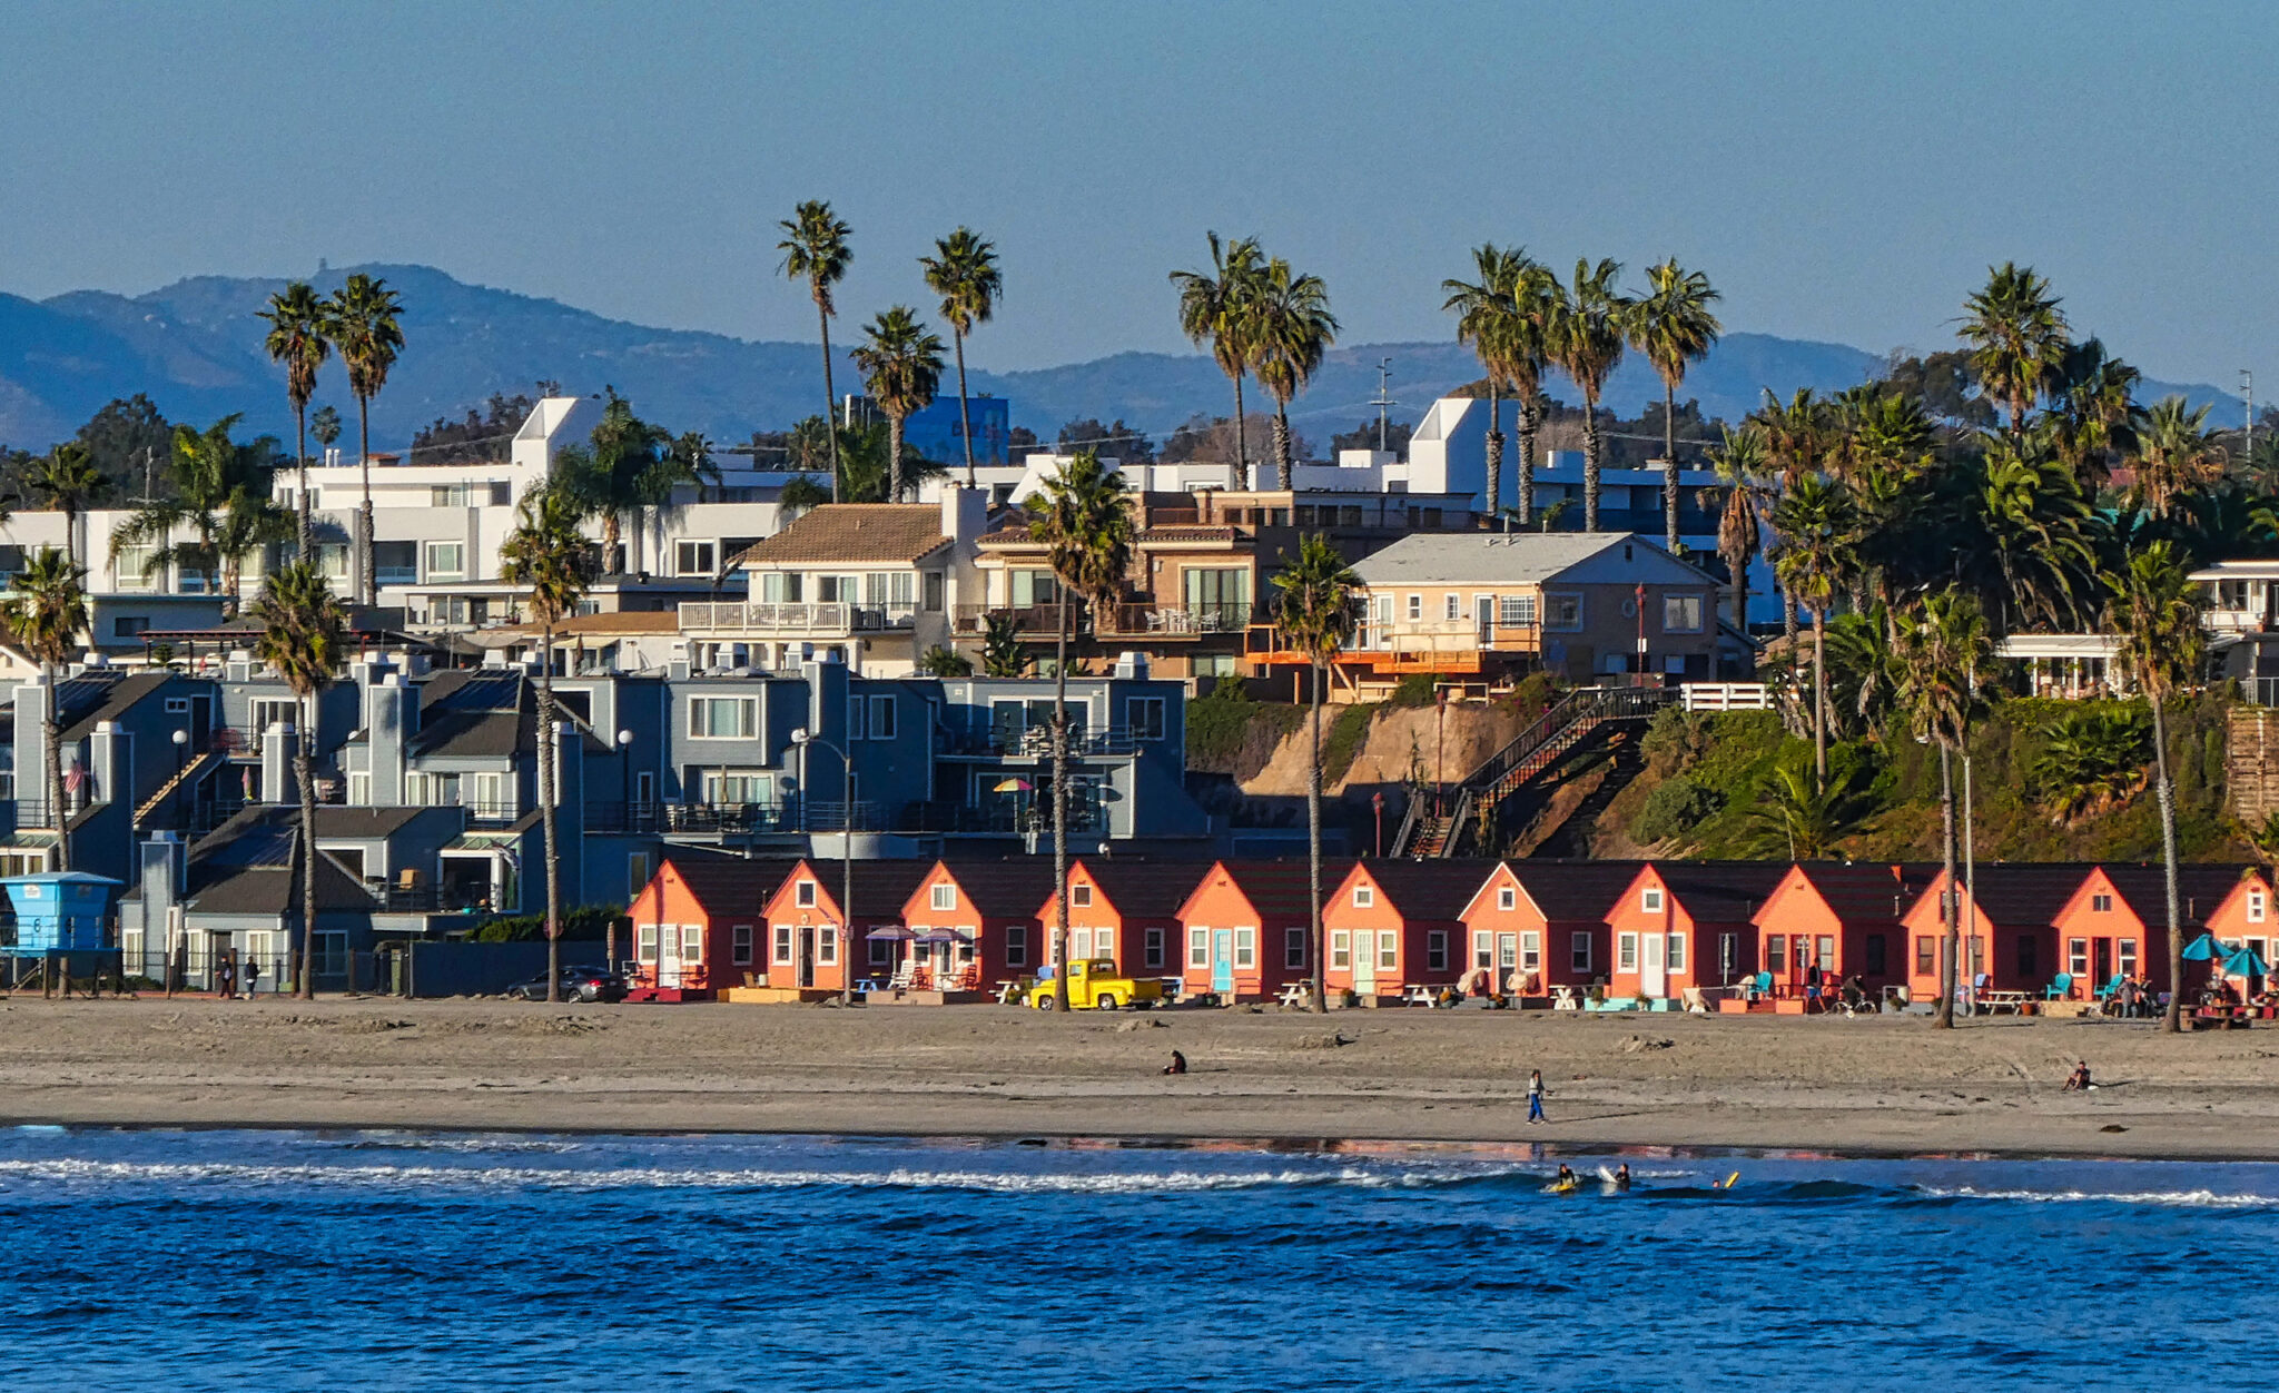
{"label": "cream house with brown tiled roof and white-railed balcony", "polygon": [[688,663],[784,670],[836,652],[852,673],[907,677],[950,645],[950,616],[980,593],[987,527],[987,495],[971,488],[939,504],[809,508],[727,563],[745,575],[745,600],[679,606]]}

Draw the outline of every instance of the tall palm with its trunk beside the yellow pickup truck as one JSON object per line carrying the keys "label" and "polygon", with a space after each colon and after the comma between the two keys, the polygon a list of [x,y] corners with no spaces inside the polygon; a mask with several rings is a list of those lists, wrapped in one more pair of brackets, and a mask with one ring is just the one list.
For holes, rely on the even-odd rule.
{"label": "tall palm with its trunk beside the yellow pickup truck", "polygon": [[1048,547],[1060,581],[1060,645],[1053,663],[1053,1010],[1069,1010],[1069,590],[1092,602],[1092,632],[1101,609],[1124,586],[1130,568],[1133,515],[1124,474],[1101,467],[1094,449],[1078,449],[1028,499],[1028,536]]}

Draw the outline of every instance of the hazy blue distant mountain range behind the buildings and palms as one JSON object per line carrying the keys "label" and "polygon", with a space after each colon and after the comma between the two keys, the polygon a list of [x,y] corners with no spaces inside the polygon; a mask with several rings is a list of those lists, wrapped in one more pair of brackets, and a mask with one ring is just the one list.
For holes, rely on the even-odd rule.
{"label": "hazy blue distant mountain range behind the buildings and palms", "polygon": [[[315,285],[330,292],[351,271],[385,276],[406,306],[408,347],[374,401],[374,447],[401,447],[435,417],[460,417],[492,392],[531,392],[538,381],[558,381],[579,394],[615,385],[643,417],[716,440],[784,429],[811,415],[823,397],[811,342],[650,328],[467,285],[433,267],[340,267],[319,274]],[[262,353],[264,326],[255,319],[283,287],[283,278],[194,276],[137,296],[80,290],[30,301],[0,294],[0,442],[46,449],[112,397],[134,392],[146,392],[171,419],[244,413],[253,429],[285,435],[292,415],[283,374]],[[1000,331],[978,337],[973,353],[980,358],[987,358],[989,333]],[[1479,378],[1479,365],[1454,342],[1335,349],[1292,404],[1292,417],[1317,445],[1326,445],[1331,431],[1374,419],[1379,360],[1390,360],[1397,419],[1415,419],[1433,397]],[[1680,397],[1737,419],[1759,404],[1764,388],[1780,394],[1841,390],[1873,376],[1880,362],[1880,353],[1846,344],[1730,333],[1686,376]],[[841,360],[841,390],[857,383],[852,365]],[[1160,435],[1190,415],[1233,410],[1226,378],[1196,353],[1112,353],[1030,372],[973,372],[971,383],[978,394],[1007,397],[1014,424],[1046,438],[1080,417],[1121,417]],[[1552,392],[1575,397],[1561,388],[1563,381]],[[2170,392],[2195,404],[2229,399],[2208,385],[2147,383],[2147,397]],[[1604,404],[1629,415],[1659,397],[1652,369],[1625,358]],[[337,365],[326,365],[317,401],[340,408],[353,442],[356,404]]]}

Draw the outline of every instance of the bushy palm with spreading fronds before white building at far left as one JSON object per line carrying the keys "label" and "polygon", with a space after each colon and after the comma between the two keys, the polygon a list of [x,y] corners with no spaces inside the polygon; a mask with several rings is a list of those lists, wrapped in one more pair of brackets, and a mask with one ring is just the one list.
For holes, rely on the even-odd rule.
{"label": "bushy palm with spreading fronds before white building at far left", "polygon": [[[144,575],[180,565],[205,572],[207,584],[219,579],[223,618],[237,613],[244,561],[294,536],[292,515],[269,497],[276,442],[262,435],[237,445],[230,440],[237,422],[237,415],[226,415],[205,431],[175,426],[166,458],[173,497],[146,502],[112,529],[112,561],[128,547],[160,543],[144,559]],[[180,529],[191,536],[175,540]]]}

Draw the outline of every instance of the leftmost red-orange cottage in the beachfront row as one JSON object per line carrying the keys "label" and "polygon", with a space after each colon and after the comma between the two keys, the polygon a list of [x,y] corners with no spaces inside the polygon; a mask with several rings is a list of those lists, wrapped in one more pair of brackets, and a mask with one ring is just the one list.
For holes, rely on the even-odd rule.
{"label": "leftmost red-orange cottage in the beachfront row", "polygon": [[634,896],[634,992],[709,1001],[757,971],[761,907],[791,862],[670,853]]}

